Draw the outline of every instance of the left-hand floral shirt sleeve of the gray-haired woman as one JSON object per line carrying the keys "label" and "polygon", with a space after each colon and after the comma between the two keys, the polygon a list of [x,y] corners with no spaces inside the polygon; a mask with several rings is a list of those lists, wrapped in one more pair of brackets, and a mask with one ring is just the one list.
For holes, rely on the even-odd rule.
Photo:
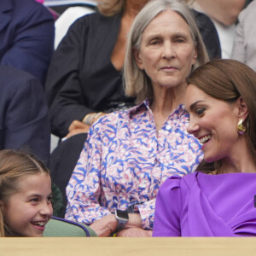
{"label": "left-hand floral shirt sleeve of the gray-haired woman", "polygon": [[101,156],[102,139],[98,134],[101,123],[90,128],[79,161],[67,185],[66,218],[84,224],[92,224],[96,219],[111,214],[101,207]]}

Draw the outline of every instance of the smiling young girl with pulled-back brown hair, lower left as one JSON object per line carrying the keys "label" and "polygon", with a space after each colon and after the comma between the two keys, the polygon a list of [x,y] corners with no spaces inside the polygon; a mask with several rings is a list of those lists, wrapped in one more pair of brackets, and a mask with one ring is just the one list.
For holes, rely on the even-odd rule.
{"label": "smiling young girl with pulled-back brown hair, lower left", "polygon": [[0,237],[43,236],[53,213],[49,170],[31,154],[0,151]]}

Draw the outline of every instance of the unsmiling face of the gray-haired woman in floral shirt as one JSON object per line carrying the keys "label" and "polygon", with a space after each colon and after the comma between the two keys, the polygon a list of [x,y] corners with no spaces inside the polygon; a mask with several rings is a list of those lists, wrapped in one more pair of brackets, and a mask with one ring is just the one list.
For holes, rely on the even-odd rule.
{"label": "unsmiling face of the gray-haired woman in floral shirt", "polygon": [[160,13],[149,23],[141,49],[135,52],[138,67],[145,70],[153,87],[186,84],[196,57],[188,24],[172,10]]}

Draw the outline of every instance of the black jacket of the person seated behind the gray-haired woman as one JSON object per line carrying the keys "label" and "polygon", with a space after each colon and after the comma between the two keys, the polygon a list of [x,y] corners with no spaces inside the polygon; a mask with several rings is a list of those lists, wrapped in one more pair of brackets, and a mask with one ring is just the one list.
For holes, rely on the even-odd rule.
{"label": "black jacket of the person seated behind the gray-haired woman", "polygon": [[[220,56],[212,20],[196,14],[207,49]],[[120,20],[121,15],[85,15],[73,23],[56,49],[46,81],[51,128],[56,136],[66,136],[73,120],[81,120],[87,113],[119,108],[119,104],[112,106],[113,102],[133,102],[125,97],[122,72],[111,62]]]}

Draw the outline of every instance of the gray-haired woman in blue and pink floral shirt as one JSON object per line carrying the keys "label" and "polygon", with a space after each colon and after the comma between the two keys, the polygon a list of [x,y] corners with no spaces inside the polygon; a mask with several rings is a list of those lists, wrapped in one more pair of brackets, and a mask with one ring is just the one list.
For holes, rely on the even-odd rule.
{"label": "gray-haired woman in blue and pink floral shirt", "polygon": [[181,1],[150,1],[127,43],[125,92],[138,105],[92,125],[67,186],[66,218],[98,236],[151,236],[160,184],[202,158],[183,106],[186,78],[208,61],[192,13]]}

